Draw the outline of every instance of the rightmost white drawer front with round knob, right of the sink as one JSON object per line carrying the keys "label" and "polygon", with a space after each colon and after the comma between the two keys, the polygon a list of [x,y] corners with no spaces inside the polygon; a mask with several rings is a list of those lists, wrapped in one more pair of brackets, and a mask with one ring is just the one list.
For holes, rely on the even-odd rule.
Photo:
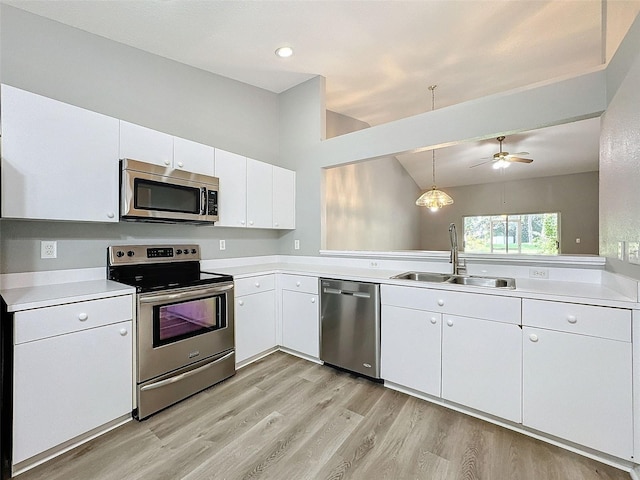
{"label": "rightmost white drawer front with round knob, right of the sink", "polygon": [[531,327],[631,341],[631,310],[524,299],[522,323]]}

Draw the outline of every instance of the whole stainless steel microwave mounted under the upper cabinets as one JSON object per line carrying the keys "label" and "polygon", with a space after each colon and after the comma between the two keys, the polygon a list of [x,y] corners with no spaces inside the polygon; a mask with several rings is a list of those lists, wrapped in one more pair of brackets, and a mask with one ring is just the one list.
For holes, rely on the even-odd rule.
{"label": "whole stainless steel microwave mounted under the upper cabinets", "polygon": [[120,160],[120,218],[213,224],[218,187],[217,177],[126,158]]}

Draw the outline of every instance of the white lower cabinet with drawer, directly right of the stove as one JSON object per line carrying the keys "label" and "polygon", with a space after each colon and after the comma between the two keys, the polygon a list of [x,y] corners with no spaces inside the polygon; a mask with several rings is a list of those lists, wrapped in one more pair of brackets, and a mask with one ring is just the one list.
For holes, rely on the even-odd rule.
{"label": "white lower cabinet with drawer, directly right of the stove", "polygon": [[274,275],[235,282],[236,363],[273,349],[276,343]]}

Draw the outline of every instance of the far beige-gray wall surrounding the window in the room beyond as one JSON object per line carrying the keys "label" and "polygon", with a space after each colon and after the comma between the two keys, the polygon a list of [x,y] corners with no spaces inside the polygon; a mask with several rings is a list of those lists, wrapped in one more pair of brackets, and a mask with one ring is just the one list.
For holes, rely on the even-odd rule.
{"label": "far beige-gray wall surrounding the window in the room beyond", "polygon": [[443,190],[454,203],[438,212],[422,210],[422,250],[449,249],[449,224],[462,232],[466,215],[560,212],[562,253],[598,254],[598,172]]}

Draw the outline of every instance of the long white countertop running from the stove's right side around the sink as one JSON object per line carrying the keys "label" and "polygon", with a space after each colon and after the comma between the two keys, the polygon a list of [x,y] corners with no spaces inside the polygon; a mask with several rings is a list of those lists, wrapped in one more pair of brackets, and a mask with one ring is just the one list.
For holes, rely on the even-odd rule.
{"label": "long white countertop running from the stove's right side around the sink", "polygon": [[230,274],[233,275],[236,279],[271,273],[285,273],[292,275],[310,275],[318,277],[338,278],[361,282],[374,282],[387,285],[411,286],[416,288],[431,288],[436,290],[451,290],[520,298],[555,300],[588,305],[602,305],[608,307],[640,307],[640,304],[637,303],[634,299],[597,283],[516,278],[515,289],[501,289],[418,282],[414,280],[395,280],[391,279],[390,277],[399,273],[403,273],[406,270],[354,268],[340,267],[336,265],[325,266],[311,264],[305,265],[291,263],[268,263],[261,265],[245,265],[234,267],[208,267],[203,269],[205,271],[216,271],[218,273]]}

